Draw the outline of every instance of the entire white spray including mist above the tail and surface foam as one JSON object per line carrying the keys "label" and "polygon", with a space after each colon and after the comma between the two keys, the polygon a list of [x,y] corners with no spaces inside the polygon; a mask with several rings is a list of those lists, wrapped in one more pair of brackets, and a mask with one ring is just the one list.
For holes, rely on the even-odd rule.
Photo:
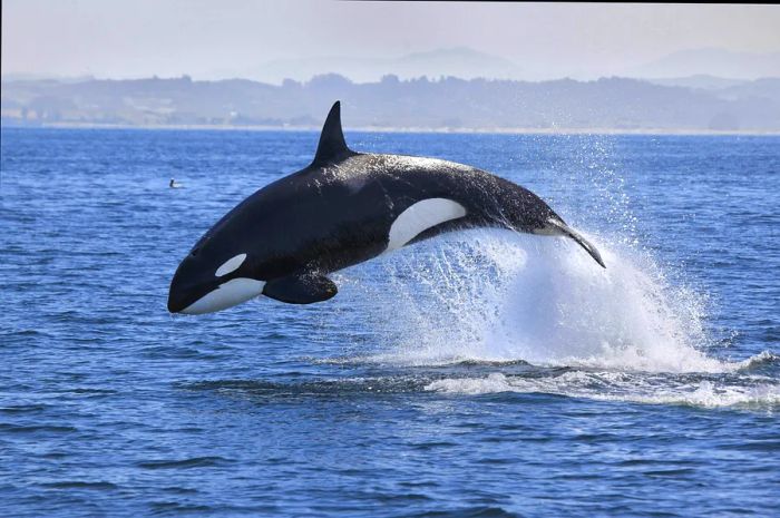
{"label": "entire white spray including mist above the tail and surface foam", "polygon": [[[441,392],[777,404],[777,378],[749,371],[766,363],[774,369],[778,358],[729,362],[708,354],[706,296],[684,276],[670,278],[670,268],[640,244],[610,143],[581,144],[569,146],[577,153],[567,157],[576,173],[553,170],[557,180],[546,197],[578,231],[603,229],[585,234],[606,270],[569,240],[508,231],[468,231],[403,248],[341,274],[340,296],[360,307],[376,345],[345,361],[406,368],[499,362],[498,372],[426,385]],[[539,371],[525,377],[500,368],[518,361]]]}

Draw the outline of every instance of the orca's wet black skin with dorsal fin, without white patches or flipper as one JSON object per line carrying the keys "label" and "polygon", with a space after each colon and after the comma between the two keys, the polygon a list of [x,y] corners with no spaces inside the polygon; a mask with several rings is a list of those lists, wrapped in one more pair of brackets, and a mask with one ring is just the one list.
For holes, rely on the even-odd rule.
{"label": "orca's wet black skin with dorsal fin, without white patches or flipper", "polygon": [[[251,195],[197,242],[170,284],[170,312],[231,278],[324,275],[376,257],[386,251],[396,218],[428,198],[457,202],[467,215],[425,231],[412,243],[469,227],[530,233],[545,228],[549,219],[565,225],[534,193],[484,170],[352,152],[343,144],[340,124],[338,131],[329,131],[333,118],[339,123],[338,111],[337,104],[309,167]],[[247,257],[238,270],[215,277],[220,265],[241,253]]]}

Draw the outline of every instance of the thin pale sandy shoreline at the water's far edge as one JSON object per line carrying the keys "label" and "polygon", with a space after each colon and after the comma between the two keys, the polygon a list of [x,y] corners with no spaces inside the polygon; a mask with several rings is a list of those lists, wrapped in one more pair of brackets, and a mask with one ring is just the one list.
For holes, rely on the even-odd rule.
{"label": "thin pale sandy shoreline at the water's far edge", "polygon": [[[262,125],[125,125],[97,123],[47,123],[39,125],[2,124],[3,129],[147,129],[147,130],[221,130],[221,131],[320,131],[315,126],[262,126]],[[426,128],[426,127],[347,127],[348,131],[360,133],[408,133],[408,134],[462,134],[462,135],[659,135],[659,136],[757,136],[777,137],[780,130],[760,129],[690,129],[690,128]]]}

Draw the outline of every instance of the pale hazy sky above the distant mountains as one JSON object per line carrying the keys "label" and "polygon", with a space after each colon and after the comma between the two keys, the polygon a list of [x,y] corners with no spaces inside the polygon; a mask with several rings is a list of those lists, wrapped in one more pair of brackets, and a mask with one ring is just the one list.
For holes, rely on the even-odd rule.
{"label": "pale hazy sky above the distant mountains", "polygon": [[280,58],[469,47],[549,77],[780,51],[776,6],[3,0],[2,74],[215,78]]}

